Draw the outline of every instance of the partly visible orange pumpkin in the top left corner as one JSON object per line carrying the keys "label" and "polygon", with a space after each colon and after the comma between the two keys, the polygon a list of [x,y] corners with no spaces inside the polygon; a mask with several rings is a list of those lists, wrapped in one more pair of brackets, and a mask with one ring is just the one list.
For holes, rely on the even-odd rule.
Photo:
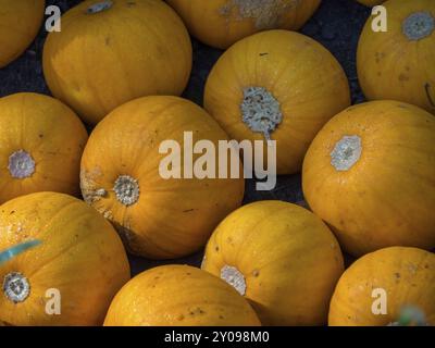
{"label": "partly visible orange pumpkin in the top left corner", "polygon": [[45,0],[0,0],[0,69],[30,45],[44,18]]}

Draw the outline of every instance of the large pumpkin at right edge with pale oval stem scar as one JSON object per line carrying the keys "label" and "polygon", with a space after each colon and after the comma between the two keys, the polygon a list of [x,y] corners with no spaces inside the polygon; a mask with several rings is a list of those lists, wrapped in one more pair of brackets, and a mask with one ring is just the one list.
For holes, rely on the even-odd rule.
{"label": "large pumpkin at right edge with pale oval stem scar", "polygon": [[353,256],[435,247],[435,119],[397,101],[351,107],[308,150],[307,202]]}

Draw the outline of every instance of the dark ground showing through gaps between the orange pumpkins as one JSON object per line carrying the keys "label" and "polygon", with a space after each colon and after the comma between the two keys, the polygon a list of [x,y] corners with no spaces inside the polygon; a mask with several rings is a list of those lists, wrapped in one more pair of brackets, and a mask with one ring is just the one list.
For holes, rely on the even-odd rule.
{"label": "dark ground showing through gaps between the orange pumpkins", "polygon": [[[80,0],[48,0],[47,5],[59,5],[62,13],[64,13],[79,2]],[[322,42],[341,63],[349,78],[353,103],[364,100],[358,85],[356,49],[359,35],[369,15],[370,10],[355,0],[323,0],[318,12],[301,29],[301,33]],[[0,70],[0,97],[21,91],[50,95],[44,80],[41,65],[45,37],[46,32],[41,29],[35,42],[18,60]],[[194,71],[184,96],[201,104],[207,76],[222,51],[207,47],[195,39],[192,44],[195,53]],[[254,190],[254,183],[248,181],[245,202],[264,199],[303,202],[300,175],[278,177],[276,188],[273,191],[257,191]],[[183,260],[167,261],[165,263],[175,262],[199,265],[200,260],[201,253],[197,253]],[[162,264],[162,262],[132,257],[130,264],[133,274],[137,274],[150,266]]]}

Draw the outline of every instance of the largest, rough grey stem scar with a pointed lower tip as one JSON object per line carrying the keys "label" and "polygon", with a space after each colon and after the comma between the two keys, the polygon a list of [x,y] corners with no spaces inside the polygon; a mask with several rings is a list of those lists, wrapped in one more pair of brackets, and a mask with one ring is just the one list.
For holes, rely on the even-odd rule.
{"label": "largest, rough grey stem scar with a pointed lower tip", "polygon": [[244,123],[252,132],[263,133],[266,140],[283,122],[279,102],[263,87],[245,88],[240,110]]}

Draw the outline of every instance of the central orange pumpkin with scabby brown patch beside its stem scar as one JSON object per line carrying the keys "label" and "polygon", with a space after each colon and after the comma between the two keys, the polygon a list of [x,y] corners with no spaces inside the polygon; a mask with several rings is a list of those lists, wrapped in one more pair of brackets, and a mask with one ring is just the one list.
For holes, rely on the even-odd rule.
{"label": "central orange pumpkin with scabby brown patch beside its stem scar", "polygon": [[[167,140],[179,145],[178,156],[171,153],[183,163],[190,156],[192,163],[199,160],[200,154],[184,150],[189,132],[192,145],[208,140],[217,148],[220,140],[228,140],[200,107],[178,97],[159,96],[117,108],[89,138],[82,159],[83,196],[115,224],[134,254],[151,259],[187,256],[206,245],[219,222],[241,203],[243,175],[188,178],[182,162],[165,164],[169,156],[160,150]],[[166,176],[162,169],[171,166],[183,170],[182,175]]]}

